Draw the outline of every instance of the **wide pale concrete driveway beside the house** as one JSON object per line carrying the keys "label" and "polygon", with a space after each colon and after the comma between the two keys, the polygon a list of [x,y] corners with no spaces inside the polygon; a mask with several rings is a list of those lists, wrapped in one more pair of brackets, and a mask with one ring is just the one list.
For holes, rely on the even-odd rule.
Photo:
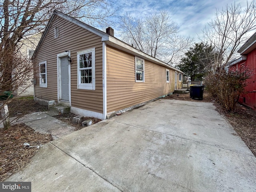
{"label": "wide pale concrete driveway beside the house", "polygon": [[255,192],[256,158],[214,108],[150,102],[46,144],[8,181],[35,192]]}

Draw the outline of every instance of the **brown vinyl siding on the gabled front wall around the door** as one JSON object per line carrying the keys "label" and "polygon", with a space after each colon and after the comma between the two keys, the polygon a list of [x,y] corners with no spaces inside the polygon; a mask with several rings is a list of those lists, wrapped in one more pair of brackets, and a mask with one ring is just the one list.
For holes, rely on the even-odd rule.
{"label": "brown vinyl siding on the gabled front wall around the door", "polygon": [[[54,38],[54,27],[59,27],[59,37]],[[77,88],[77,52],[95,48],[95,90]],[[103,113],[102,91],[102,41],[101,37],[56,16],[37,55],[36,64],[47,61],[47,88],[39,87],[36,97],[57,101],[57,54],[71,51],[71,106]]]}

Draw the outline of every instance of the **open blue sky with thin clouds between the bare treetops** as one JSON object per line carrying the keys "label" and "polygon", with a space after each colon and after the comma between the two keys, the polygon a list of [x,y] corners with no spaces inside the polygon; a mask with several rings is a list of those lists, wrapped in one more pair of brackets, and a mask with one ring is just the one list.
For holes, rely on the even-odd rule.
{"label": "open blue sky with thin clouds between the bare treetops", "polygon": [[[222,10],[226,5],[234,4],[234,0],[119,0],[113,1],[120,7],[119,14],[131,14],[144,17],[161,9],[167,10],[170,17],[180,26],[180,34],[194,37],[202,33],[208,22],[214,20],[216,9]],[[250,1],[249,1],[250,2]],[[246,7],[246,0],[236,0]]]}

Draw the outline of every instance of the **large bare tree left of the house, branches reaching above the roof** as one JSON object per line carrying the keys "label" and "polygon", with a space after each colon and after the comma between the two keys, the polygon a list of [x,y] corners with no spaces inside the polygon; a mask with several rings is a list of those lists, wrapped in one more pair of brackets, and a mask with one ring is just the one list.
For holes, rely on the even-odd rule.
{"label": "large bare tree left of the house, branches reaching above the roof", "polygon": [[[27,83],[32,71],[29,58],[19,52],[24,36],[43,31],[54,10],[89,24],[105,25],[114,15],[107,0],[0,0],[0,96]],[[94,25],[94,26],[95,26]],[[1,102],[2,110],[10,97]]]}

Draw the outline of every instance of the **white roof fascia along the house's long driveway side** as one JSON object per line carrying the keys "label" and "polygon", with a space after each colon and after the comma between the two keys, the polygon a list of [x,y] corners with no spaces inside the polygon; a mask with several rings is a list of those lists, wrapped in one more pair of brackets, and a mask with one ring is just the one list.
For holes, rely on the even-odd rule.
{"label": "white roof fascia along the house's long driveway side", "polygon": [[[152,56],[150,56],[150,55],[148,55],[144,52],[141,52],[140,50],[122,42],[121,40],[118,40],[117,38],[109,36],[107,41],[108,42],[106,42],[106,43],[109,44],[110,46],[117,47],[120,50],[124,50],[125,52],[128,52],[130,54],[134,54],[135,56],[145,58],[146,60],[149,60],[149,61],[151,61],[155,64],[160,64],[162,66],[165,66],[167,68],[170,68],[172,70],[175,70],[177,72],[180,72],[180,73],[184,74],[184,72],[182,72],[181,70],[179,70],[179,69],[177,69],[173,66],[170,66],[170,65],[168,65],[168,64],[166,64],[166,63],[164,63],[164,62],[162,62],[162,61],[160,61],[160,60],[158,60],[158,59],[156,59],[156,58],[154,58],[154,57],[152,57]],[[115,46],[115,45],[117,45],[117,46]]]}

